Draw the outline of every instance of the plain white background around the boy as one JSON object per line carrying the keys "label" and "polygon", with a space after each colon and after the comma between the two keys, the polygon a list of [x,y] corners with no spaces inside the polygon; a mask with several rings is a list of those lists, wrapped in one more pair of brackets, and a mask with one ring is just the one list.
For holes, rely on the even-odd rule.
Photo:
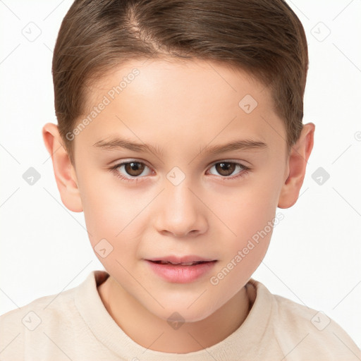
{"label": "plain white background around the boy", "polygon": [[[103,269],[83,214],[61,203],[42,140],[44,123],[57,123],[52,49],[72,2],[0,1],[0,314]],[[360,347],[361,1],[288,4],[309,44],[303,123],[316,125],[315,142],[300,198],[290,209],[277,209],[285,219],[253,278],[272,293],[322,310]],[[32,26],[35,34],[30,22],[41,30],[33,42],[22,33]],[[30,166],[41,176],[34,185],[23,179]],[[330,175],[322,185],[312,178],[320,166]]]}

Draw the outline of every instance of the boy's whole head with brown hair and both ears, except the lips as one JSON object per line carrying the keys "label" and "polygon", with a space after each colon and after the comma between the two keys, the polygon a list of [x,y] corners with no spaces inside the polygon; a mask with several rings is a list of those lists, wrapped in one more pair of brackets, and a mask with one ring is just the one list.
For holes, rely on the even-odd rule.
{"label": "boy's whole head with brown hair and both ears, except the lips", "polygon": [[[75,0],[63,19],[59,125],[43,128],[61,200],[84,212],[111,277],[158,317],[204,319],[262,262],[313,147],[307,66],[282,0]],[[147,262],[169,255],[216,262],[170,282]]]}

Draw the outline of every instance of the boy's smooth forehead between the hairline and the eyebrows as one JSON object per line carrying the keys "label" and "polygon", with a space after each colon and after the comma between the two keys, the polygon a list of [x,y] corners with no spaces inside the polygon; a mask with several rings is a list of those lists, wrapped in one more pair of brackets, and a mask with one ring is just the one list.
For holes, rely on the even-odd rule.
{"label": "boy's smooth forehead between the hairline and the eyebrows", "polygon": [[92,84],[86,99],[80,120],[106,103],[80,134],[87,145],[120,134],[169,147],[230,137],[286,143],[269,89],[211,61],[129,61]]}

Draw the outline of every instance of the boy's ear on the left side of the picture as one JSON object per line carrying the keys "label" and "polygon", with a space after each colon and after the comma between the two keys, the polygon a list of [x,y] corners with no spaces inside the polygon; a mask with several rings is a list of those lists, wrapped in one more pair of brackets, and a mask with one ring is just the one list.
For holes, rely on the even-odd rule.
{"label": "boy's ear on the left side of the picture", "polygon": [[42,128],[42,137],[53,161],[56,185],[58,185],[61,201],[69,210],[82,212],[75,169],[61,140],[58,126],[53,123],[45,124]]}

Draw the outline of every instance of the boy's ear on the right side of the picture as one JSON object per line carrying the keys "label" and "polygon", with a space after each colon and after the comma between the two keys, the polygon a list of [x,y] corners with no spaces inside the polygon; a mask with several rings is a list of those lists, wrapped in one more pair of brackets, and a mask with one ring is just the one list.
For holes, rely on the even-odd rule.
{"label": "boy's ear on the right side of the picture", "polygon": [[307,160],[310,157],[314,140],[314,123],[303,126],[300,138],[293,145],[288,157],[288,178],[281,188],[279,208],[289,208],[298,200],[303,179],[305,178]]}

